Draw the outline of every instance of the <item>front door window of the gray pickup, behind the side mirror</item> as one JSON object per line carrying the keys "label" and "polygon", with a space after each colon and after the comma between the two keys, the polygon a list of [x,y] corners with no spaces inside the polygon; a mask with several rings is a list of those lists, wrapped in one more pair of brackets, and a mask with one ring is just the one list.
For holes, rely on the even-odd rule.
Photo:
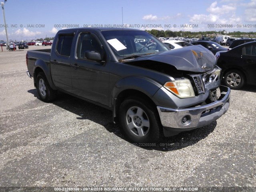
{"label": "front door window of the gray pickup, behind the side mirror", "polygon": [[85,52],[98,52],[102,55],[102,48],[96,38],[90,34],[81,34],[77,48],[77,58],[86,59]]}

